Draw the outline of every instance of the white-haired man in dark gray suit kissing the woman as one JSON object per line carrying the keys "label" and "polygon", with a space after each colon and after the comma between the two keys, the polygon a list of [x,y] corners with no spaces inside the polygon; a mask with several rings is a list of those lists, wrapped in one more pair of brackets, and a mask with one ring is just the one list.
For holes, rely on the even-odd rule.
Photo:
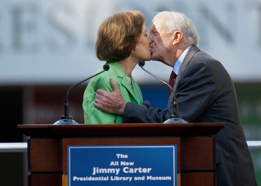
{"label": "white-haired man in dark gray suit kissing the woman", "polygon": [[[152,60],[173,67],[170,84],[174,84],[179,114],[188,122],[225,123],[215,135],[218,185],[257,185],[233,82],[219,61],[196,47],[199,36],[191,19],[179,12],[159,12],[149,37]],[[173,93],[167,109],[161,111],[126,103],[112,79],[111,84],[112,93],[97,89],[93,104],[123,115],[124,123],[162,123],[173,113]]]}

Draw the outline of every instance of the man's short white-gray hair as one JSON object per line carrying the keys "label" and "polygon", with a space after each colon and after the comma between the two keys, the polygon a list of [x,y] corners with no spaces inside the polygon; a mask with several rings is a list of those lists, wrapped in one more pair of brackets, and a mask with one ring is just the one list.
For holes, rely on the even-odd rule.
{"label": "man's short white-gray hair", "polygon": [[199,40],[197,29],[192,20],[185,14],[174,11],[162,11],[158,12],[154,16],[152,22],[154,23],[154,21],[159,18],[163,19],[163,24],[165,24],[168,34],[171,34],[173,31],[179,30],[183,34],[185,43],[195,42],[195,44],[197,45]]}

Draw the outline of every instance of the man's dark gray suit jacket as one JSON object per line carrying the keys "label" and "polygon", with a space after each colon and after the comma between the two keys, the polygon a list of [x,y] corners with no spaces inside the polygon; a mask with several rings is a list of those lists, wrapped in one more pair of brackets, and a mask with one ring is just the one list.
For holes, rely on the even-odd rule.
{"label": "man's dark gray suit jacket", "polygon": [[[192,45],[174,83],[178,115],[188,122],[224,122],[215,135],[219,186],[257,185],[238,112],[234,84],[222,64]],[[163,123],[173,113],[127,103],[124,123]]]}

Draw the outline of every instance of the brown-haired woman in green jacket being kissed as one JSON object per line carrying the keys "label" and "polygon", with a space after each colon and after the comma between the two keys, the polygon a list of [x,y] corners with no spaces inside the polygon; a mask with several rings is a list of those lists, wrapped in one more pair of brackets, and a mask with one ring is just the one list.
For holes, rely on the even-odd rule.
{"label": "brown-haired woman in green jacket being kissed", "polygon": [[142,93],[131,75],[140,59],[151,60],[150,40],[144,21],[139,11],[129,11],[114,14],[100,25],[95,45],[96,55],[99,60],[106,61],[110,69],[92,78],[84,92],[86,124],[122,123],[121,115],[105,113],[93,105],[96,89],[113,92],[110,78],[115,80],[126,102],[148,105],[143,104]]}

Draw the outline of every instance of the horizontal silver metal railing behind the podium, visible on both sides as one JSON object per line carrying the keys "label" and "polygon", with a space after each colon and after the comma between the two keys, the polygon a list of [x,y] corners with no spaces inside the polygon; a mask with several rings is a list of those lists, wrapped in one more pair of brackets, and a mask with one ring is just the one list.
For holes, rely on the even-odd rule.
{"label": "horizontal silver metal railing behind the podium, visible on both sides", "polygon": [[[249,150],[261,150],[261,141],[247,141]],[[0,143],[0,152],[27,152],[27,143]]]}

